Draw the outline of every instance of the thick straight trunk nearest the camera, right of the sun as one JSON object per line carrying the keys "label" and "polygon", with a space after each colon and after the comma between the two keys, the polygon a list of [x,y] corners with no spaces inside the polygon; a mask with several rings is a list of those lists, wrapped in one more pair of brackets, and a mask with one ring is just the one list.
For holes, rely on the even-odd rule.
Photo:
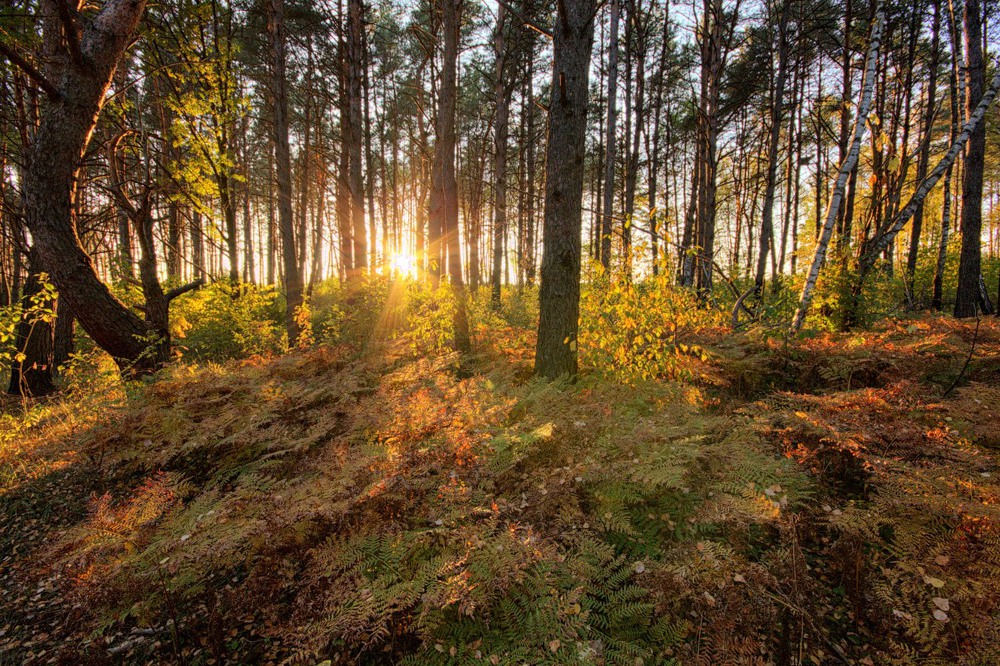
{"label": "thick straight trunk nearest the camera, right of the sun", "polygon": [[577,372],[587,93],[596,0],[557,3],[535,372]]}

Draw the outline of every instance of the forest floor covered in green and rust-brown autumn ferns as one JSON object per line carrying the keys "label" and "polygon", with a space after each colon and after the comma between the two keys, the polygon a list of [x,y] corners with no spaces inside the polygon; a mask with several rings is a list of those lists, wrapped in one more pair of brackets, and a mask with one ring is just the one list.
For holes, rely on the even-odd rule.
{"label": "forest floor covered in green and rust-brown autumn ferns", "polygon": [[6,404],[0,665],[1000,663],[1000,324],[686,342],[686,381],[546,385],[509,329]]}

